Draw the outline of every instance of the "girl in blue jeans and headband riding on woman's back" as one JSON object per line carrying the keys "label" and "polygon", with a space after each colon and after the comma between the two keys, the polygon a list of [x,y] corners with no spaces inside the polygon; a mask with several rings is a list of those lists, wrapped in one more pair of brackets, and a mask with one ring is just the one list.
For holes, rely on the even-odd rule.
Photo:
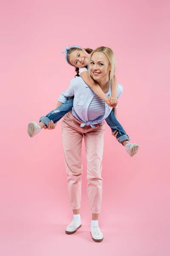
{"label": "girl in blue jeans and headband riding on woman's back", "polygon": [[[101,99],[104,101],[103,104],[108,104],[109,106],[113,107],[113,111],[111,111],[110,115],[106,118],[106,122],[110,126],[113,134],[116,133],[116,137],[119,139],[119,143],[122,143],[122,145],[125,146],[125,150],[130,155],[130,157],[133,157],[138,151],[138,145],[135,143],[128,143],[130,140],[128,135],[126,134],[125,130],[123,129],[122,125],[117,121],[117,103],[118,98],[122,94],[122,85],[117,83],[116,77],[114,76],[113,81],[111,81],[111,96],[109,98],[105,95],[105,93],[102,91],[100,86],[92,79],[90,78],[88,74],[87,67],[88,66],[88,53],[91,53],[92,49],[83,49],[79,46],[68,46],[62,53],[65,52],[65,60],[68,64],[71,66],[76,67],[77,75],[79,76],[79,73],[82,77],[82,79],[85,81],[85,83],[90,87],[95,95],[94,99],[96,101],[96,104],[98,102],[101,102]],[[116,60],[115,60],[116,62]],[[100,63],[99,65],[102,65]],[[112,65],[114,66],[114,65]],[[115,67],[114,67],[115,69]],[[114,70],[111,70],[111,73],[114,73]],[[95,73],[96,80],[97,76],[99,76],[99,72]],[[48,127],[50,125],[50,122],[54,122],[56,124],[66,113],[71,111],[73,107],[73,98],[68,99],[65,103],[61,102],[61,105],[56,108],[54,111],[51,111],[46,116],[42,116],[39,120],[39,125],[37,125],[36,122],[30,122],[28,124],[28,134],[30,137],[34,137],[36,134],[38,134],[44,126]],[[62,104],[64,103],[64,104]],[[95,108],[93,108],[92,105],[89,106],[91,108],[92,113],[94,112],[95,115]],[[83,125],[83,124],[82,124]]]}

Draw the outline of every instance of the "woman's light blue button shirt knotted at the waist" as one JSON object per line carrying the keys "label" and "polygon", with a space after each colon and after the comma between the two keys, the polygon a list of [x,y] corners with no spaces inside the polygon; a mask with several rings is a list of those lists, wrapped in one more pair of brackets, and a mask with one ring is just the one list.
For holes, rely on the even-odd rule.
{"label": "woman's light blue button shirt knotted at the waist", "polygon": [[[117,98],[121,96],[123,92],[123,86],[121,84],[117,84]],[[94,91],[83,81],[81,77],[76,76],[71,79],[71,83],[67,90],[60,94],[58,100],[59,102],[65,103],[68,97],[74,96],[72,113],[73,115],[82,122],[81,127],[85,125],[91,125],[91,127],[95,127],[95,124],[98,124],[104,121],[112,111],[112,107],[109,107],[105,103],[105,114],[99,116],[94,121],[88,121],[88,107],[94,97]],[[109,87],[108,93],[106,96],[111,96],[111,86]]]}

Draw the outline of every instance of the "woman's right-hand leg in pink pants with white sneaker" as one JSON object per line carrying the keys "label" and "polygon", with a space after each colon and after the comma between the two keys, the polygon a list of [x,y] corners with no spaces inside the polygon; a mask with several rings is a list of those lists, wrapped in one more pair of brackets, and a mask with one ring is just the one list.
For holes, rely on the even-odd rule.
{"label": "woman's right-hand leg in pink pants with white sneaker", "polygon": [[102,156],[105,123],[84,134],[87,158],[87,190],[90,210],[92,212],[91,235],[96,242],[103,240],[99,229],[98,217],[102,203]]}

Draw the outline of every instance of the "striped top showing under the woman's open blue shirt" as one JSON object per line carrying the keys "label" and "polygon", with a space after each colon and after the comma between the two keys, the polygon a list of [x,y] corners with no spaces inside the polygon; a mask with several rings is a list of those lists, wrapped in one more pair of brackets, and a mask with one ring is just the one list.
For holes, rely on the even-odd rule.
{"label": "striped top showing under the woman's open blue shirt", "polygon": [[105,114],[105,102],[96,94],[88,107],[88,121],[94,121]]}

